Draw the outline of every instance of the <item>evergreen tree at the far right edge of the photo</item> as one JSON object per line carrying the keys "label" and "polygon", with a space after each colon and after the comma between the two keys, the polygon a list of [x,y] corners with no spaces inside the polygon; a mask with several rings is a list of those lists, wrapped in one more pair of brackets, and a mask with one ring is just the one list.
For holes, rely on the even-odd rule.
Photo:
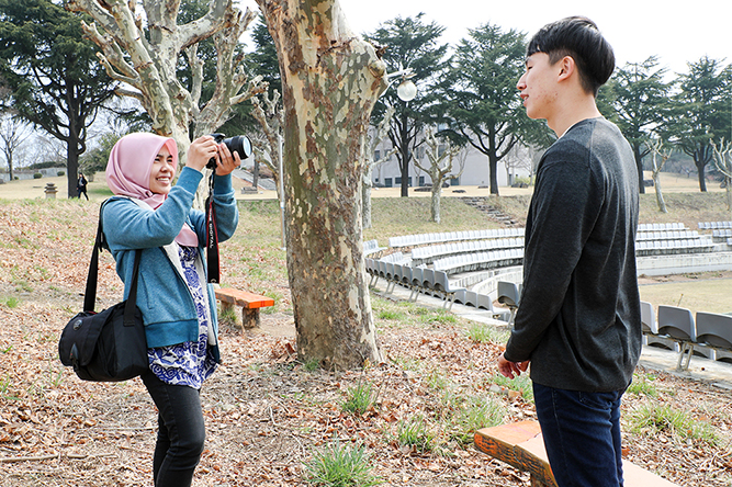
{"label": "evergreen tree at the far right edge of the photo", "polygon": [[707,191],[706,167],[713,160],[712,141],[732,133],[732,65],[702,57],[680,75],[680,91],[673,98],[672,121],[664,131],[676,147],[694,159],[699,190]]}

